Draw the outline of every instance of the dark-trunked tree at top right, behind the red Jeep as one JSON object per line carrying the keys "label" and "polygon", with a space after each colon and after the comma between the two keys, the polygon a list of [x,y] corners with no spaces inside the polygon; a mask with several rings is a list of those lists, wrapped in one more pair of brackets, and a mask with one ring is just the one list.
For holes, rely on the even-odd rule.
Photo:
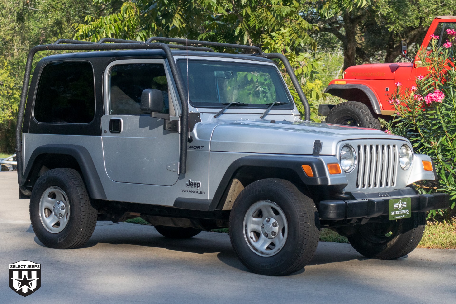
{"label": "dark-trunked tree at top right, behind the red Jeep", "polygon": [[[394,62],[401,41],[420,43],[437,15],[453,15],[455,0],[321,0],[301,2],[306,21],[341,42],[346,69],[355,64]],[[326,37],[314,34],[314,37]],[[381,52],[383,57],[378,57]]]}

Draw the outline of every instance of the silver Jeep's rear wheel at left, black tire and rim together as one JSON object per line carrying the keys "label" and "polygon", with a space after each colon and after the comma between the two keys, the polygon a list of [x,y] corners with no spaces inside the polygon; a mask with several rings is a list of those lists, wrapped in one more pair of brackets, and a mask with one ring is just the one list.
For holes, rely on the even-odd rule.
{"label": "silver Jeep's rear wheel at left, black tire and rim together", "polygon": [[30,198],[30,220],[45,246],[83,246],[92,236],[97,216],[78,171],[52,169],[36,181]]}

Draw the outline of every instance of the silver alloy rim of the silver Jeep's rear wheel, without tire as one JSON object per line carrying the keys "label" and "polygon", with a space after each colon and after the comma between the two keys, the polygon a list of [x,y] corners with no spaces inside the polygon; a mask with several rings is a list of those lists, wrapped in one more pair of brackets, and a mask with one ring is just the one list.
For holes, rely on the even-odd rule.
{"label": "silver alloy rim of the silver Jeep's rear wheel, without tire", "polygon": [[70,204],[67,194],[60,187],[52,186],[40,198],[41,224],[51,233],[61,232],[70,219]]}

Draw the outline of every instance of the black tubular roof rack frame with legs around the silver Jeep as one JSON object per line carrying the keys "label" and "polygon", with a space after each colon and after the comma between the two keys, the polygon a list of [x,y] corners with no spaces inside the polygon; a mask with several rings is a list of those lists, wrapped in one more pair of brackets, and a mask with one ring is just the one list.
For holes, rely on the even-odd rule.
{"label": "black tubular roof rack frame with legs around the silver Jeep", "polygon": [[[175,43],[185,43],[186,45],[176,45],[176,44],[165,44],[161,42],[151,42],[151,41],[168,41]],[[111,42],[111,43],[105,43]],[[61,44],[66,43],[66,44]],[[59,39],[53,44],[38,45],[33,47],[28,56],[26,62],[26,70],[24,73],[24,82],[22,84],[21,92],[21,102],[19,104],[18,115],[17,115],[17,125],[16,125],[16,155],[17,155],[17,178],[19,183],[19,189],[21,192],[30,196],[31,191],[28,190],[25,185],[25,180],[23,176],[23,161],[22,161],[22,124],[24,122],[24,113],[27,99],[28,84],[30,82],[31,75],[31,66],[33,62],[33,57],[35,54],[40,51],[76,51],[76,50],[150,50],[150,49],[161,49],[165,52],[166,58],[171,69],[172,77],[176,84],[177,93],[181,99],[182,113],[181,113],[181,143],[179,151],[179,172],[187,172],[187,139],[188,139],[188,101],[186,91],[182,82],[182,78],[179,75],[177,70],[176,62],[173,58],[171,48],[191,50],[191,51],[207,51],[214,52],[211,48],[201,47],[201,46],[188,46],[187,44],[197,44],[197,45],[206,45],[206,46],[221,46],[221,47],[232,47],[239,49],[252,50],[259,53],[259,56],[265,58],[277,58],[280,59],[285,66],[286,72],[289,74],[291,82],[295,86],[296,92],[298,93],[299,98],[301,99],[302,104],[305,108],[305,119],[310,120],[310,106],[307,102],[306,96],[302,92],[301,85],[293,72],[293,69],[288,62],[288,59],[280,53],[263,53],[258,46],[244,46],[231,43],[221,43],[221,42],[210,42],[210,41],[199,41],[199,40],[187,40],[180,38],[166,38],[166,37],[150,37],[147,41],[134,41],[134,40],[124,40],[124,39],[114,39],[114,38],[102,38],[97,42],[91,41],[79,41],[79,40],[70,40],[70,39]]]}

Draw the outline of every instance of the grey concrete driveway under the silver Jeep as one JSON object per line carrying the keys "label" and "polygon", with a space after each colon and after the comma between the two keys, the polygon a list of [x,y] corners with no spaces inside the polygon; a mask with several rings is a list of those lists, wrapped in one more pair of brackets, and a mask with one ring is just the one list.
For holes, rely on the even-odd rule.
{"label": "grey concrete driveway under the silver Jeep", "polygon": [[[21,260],[41,264],[41,288],[26,298],[8,287],[8,264]],[[151,226],[98,222],[85,247],[50,249],[31,230],[16,172],[1,172],[0,303],[456,303],[456,250],[381,261],[320,242],[304,271],[267,277],[249,273],[216,232],[170,240]]]}

